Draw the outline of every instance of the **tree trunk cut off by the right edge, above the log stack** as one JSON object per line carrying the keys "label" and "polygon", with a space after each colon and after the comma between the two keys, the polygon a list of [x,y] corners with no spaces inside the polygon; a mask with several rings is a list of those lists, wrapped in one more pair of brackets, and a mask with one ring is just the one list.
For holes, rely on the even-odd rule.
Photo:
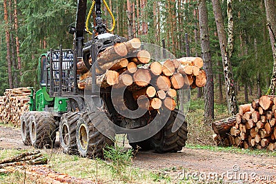
{"label": "tree trunk cut off by the right edge, above the log stack", "polygon": [[270,80],[269,94],[275,94],[276,90],[276,2],[273,0],[264,0],[266,7],[266,21],[270,37],[271,48],[273,52],[273,72]]}

